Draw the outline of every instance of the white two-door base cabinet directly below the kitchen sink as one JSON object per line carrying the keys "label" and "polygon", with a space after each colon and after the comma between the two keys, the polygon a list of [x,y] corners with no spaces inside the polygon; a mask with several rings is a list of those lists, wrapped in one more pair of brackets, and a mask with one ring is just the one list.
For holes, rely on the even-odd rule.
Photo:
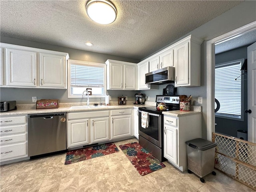
{"label": "white two-door base cabinet directly below the kitchen sink", "polygon": [[68,113],[67,148],[109,140],[109,111]]}

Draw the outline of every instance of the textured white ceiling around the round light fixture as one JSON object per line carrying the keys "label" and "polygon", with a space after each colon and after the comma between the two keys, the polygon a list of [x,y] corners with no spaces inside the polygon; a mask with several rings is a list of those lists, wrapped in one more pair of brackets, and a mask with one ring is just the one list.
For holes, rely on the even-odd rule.
{"label": "textured white ceiling around the round light fixture", "polygon": [[[143,59],[243,1],[113,0],[116,21],[96,24],[86,0],[0,0],[1,36]],[[92,42],[92,47],[86,46]]]}

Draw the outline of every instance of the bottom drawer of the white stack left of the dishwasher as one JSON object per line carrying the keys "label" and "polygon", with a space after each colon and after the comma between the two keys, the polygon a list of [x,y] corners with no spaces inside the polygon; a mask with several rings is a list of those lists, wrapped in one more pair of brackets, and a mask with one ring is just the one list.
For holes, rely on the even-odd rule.
{"label": "bottom drawer of the white stack left of the dishwasher", "polygon": [[1,154],[0,158],[1,161],[4,159],[15,158],[19,156],[26,155],[26,142],[16,145],[8,145],[8,146],[1,146],[0,147]]}

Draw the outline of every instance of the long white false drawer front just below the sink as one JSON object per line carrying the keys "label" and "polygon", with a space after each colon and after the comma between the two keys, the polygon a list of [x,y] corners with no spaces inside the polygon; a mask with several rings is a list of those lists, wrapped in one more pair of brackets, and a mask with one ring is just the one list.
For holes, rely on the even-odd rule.
{"label": "long white false drawer front just below the sink", "polygon": [[104,116],[109,116],[109,111],[75,112],[75,113],[68,113],[68,120],[91,118],[91,117],[104,117]]}

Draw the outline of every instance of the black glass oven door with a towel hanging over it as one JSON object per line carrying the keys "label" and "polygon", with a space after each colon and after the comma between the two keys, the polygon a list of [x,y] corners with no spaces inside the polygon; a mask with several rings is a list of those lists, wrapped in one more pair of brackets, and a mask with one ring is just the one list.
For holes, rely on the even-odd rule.
{"label": "black glass oven door with a towel hanging over it", "polygon": [[141,112],[139,112],[139,135],[146,140],[152,142],[159,148],[162,148],[162,115],[148,113],[149,123],[148,128],[142,128],[141,126]]}

